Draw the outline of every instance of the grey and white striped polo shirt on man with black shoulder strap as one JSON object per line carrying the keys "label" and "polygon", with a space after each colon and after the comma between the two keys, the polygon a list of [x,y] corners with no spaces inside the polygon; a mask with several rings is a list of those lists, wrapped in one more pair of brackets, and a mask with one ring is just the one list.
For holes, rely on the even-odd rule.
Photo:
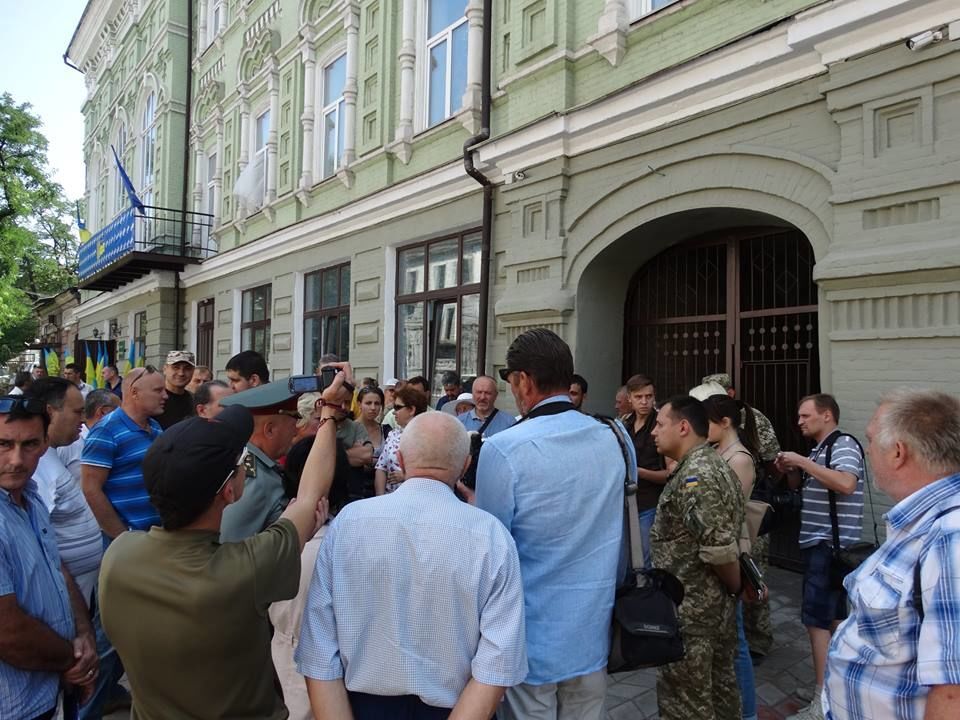
{"label": "grey and white striped polo shirt on man with black shoulder strap", "polygon": [[[810,452],[810,459],[824,467],[827,464],[826,440],[827,438],[824,438]],[[857,477],[857,489],[852,495],[836,493],[840,546],[847,547],[860,541],[863,521],[863,480],[866,476],[863,454],[856,441],[849,435],[841,435],[833,444],[830,469],[847,472]],[[804,474],[803,479],[800,547],[812,547],[822,541],[832,545],[833,529],[830,523],[829,491],[810,475]]]}

